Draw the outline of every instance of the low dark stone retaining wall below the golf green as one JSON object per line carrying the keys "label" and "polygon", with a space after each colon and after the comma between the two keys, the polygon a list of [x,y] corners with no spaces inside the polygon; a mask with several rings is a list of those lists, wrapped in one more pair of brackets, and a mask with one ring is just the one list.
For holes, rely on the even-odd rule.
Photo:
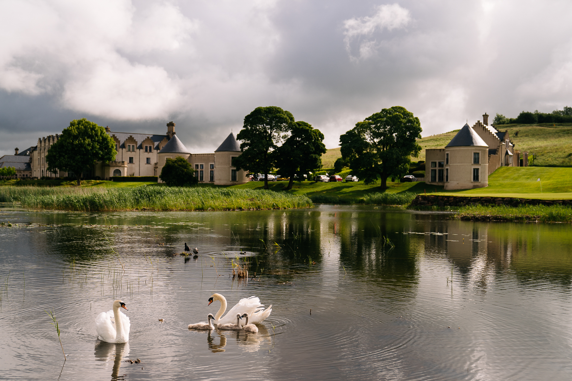
{"label": "low dark stone retaining wall below the golf green", "polygon": [[419,194],[411,205],[419,206],[466,206],[466,205],[571,205],[572,200],[538,200],[514,197],[467,197],[467,196],[433,196]]}

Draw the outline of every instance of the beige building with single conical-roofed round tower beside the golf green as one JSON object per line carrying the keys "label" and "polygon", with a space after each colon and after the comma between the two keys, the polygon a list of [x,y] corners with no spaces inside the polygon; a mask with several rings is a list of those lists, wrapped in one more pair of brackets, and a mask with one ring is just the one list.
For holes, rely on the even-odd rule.
{"label": "beige building with single conical-roofed round tower beside the golf green", "polygon": [[483,123],[467,124],[443,149],[425,150],[425,182],[444,189],[473,189],[488,186],[488,175],[499,167],[528,166],[528,153],[514,150],[507,131]]}

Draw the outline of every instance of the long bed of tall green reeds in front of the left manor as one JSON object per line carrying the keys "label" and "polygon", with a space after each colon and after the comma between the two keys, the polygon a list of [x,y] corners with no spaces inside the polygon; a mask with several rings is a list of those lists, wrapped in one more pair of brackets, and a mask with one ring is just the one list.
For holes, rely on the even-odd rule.
{"label": "long bed of tall green reeds in front of the left manor", "polygon": [[148,186],[120,189],[6,186],[0,187],[0,202],[21,202],[34,209],[74,211],[250,210],[312,206],[306,196],[285,192]]}

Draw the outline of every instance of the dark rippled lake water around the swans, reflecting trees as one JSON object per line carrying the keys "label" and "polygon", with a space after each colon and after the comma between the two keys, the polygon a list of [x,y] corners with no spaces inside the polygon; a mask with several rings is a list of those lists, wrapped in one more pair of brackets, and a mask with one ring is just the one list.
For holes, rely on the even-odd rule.
{"label": "dark rippled lake water around the swans, reflecting trees", "polygon": [[[0,379],[572,379],[570,224],[325,205],[0,222]],[[257,334],[187,330],[214,292],[273,312]],[[117,298],[129,342],[102,343]]]}

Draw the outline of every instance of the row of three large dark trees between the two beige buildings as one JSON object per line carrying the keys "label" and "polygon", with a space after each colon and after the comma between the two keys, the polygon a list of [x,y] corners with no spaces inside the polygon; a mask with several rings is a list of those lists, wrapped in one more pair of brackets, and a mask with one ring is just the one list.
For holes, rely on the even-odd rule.
{"label": "row of three large dark trees between the two beige buildings", "polygon": [[[380,187],[386,189],[388,177],[407,174],[410,157],[421,151],[416,142],[420,137],[419,118],[404,107],[383,109],[341,135],[342,157],[336,161],[335,170],[348,166],[367,184],[379,178]],[[235,159],[235,166],[265,174],[265,189],[273,168],[290,178],[287,189],[292,189],[294,177],[303,178],[321,167],[321,155],[326,151],[319,130],[306,122],[295,122],[291,113],[275,106],[257,107],[247,115],[237,139],[242,141],[243,153]]]}

